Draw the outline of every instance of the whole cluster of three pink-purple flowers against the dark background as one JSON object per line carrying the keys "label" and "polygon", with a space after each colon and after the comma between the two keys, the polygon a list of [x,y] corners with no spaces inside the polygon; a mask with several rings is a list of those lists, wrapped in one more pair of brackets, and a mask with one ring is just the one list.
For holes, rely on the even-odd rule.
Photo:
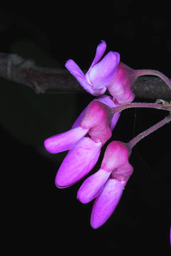
{"label": "whole cluster of three pink-purple flowers against the dark background", "polygon": [[[58,188],[72,186],[94,168],[101,147],[111,138],[120,117],[121,112],[114,109],[134,100],[131,86],[138,76],[145,74],[121,63],[119,53],[110,51],[101,59],[105,50],[106,43],[101,41],[85,75],[73,60],[67,60],[65,64],[84,90],[95,97],[69,131],[45,140],[45,149],[52,154],[68,150],[55,177]],[[106,90],[111,96],[104,94]],[[135,143],[133,141],[132,145]],[[132,147],[118,141],[109,143],[99,171],[89,176],[79,188],[79,201],[89,203],[95,199],[92,228],[103,225],[118,205],[123,188],[133,173],[133,166],[129,163]]]}

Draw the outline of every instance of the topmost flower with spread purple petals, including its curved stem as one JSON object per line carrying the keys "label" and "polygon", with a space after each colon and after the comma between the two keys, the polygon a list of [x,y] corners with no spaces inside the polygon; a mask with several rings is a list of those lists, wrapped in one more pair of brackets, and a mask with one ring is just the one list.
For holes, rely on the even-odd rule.
{"label": "topmost flower with spread purple petals, including its curved stem", "polygon": [[103,95],[108,90],[118,104],[132,102],[135,95],[131,87],[141,75],[156,75],[171,89],[170,80],[158,70],[133,70],[120,62],[119,53],[110,51],[101,59],[105,50],[106,43],[101,41],[96,48],[92,65],[85,75],[73,60],[67,60],[65,63],[65,67],[91,95]]}

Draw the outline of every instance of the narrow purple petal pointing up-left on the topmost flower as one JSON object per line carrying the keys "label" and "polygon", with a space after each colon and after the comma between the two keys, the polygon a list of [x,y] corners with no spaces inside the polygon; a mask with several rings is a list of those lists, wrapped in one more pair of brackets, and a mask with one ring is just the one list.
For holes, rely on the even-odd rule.
{"label": "narrow purple petal pointing up-left on the topmost flower", "polygon": [[84,90],[91,93],[92,95],[94,94],[94,90],[92,90],[92,85],[87,82],[84,73],[74,60],[67,60],[67,62],[65,63],[65,68],[67,68],[67,70],[69,70],[70,73],[77,79],[77,81],[80,83],[80,85],[82,85]]}

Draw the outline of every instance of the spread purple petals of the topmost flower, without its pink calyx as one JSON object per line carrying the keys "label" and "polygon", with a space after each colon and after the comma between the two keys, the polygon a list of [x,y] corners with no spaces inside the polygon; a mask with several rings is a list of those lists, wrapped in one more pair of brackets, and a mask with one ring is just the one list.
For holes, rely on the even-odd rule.
{"label": "spread purple petals of the topmost flower, without its pink calyx", "polygon": [[74,60],[67,60],[67,63],[65,63],[65,67],[74,75],[84,90],[87,90],[87,92],[94,96],[103,95],[106,92],[107,86],[116,74],[120,61],[119,53],[112,51],[100,60],[105,50],[106,43],[101,41],[96,48],[96,55],[86,75],[84,75]]}

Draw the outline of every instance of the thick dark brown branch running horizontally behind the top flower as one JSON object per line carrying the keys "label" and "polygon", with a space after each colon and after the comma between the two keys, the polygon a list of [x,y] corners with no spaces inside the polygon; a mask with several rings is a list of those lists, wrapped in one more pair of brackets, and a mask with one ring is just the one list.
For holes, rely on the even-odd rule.
{"label": "thick dark brown branch running horizontally behind the top flower", "polygon": [[[25,60],[16,54],[0,53],[0,77],[27,85],[37,93],[85,92],[67,70],[39,67],[33,60]],[[132,89],[136,97],[171,99],[171,91],[165,82],[154,76],[138,78]]]}

